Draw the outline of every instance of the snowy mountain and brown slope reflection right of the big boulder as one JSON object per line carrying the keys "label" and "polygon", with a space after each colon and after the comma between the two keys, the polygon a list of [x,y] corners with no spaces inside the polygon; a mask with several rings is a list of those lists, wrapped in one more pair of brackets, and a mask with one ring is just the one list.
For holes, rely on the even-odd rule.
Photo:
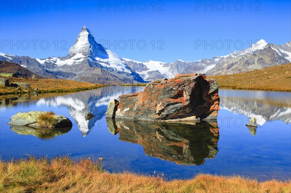
{"label": "snowy mountain and brown slope reflection right of the big boulder", "polygon": [[[219,90],[220,108],[246,117],[256,117],[257,123],[282,120],[291,122],[291,101],[288,92]],[[254,98],[254,92],[257,94]],[[251,94],[251,97],[248,97]],[[284,99],[286,99],[284,101]]]}

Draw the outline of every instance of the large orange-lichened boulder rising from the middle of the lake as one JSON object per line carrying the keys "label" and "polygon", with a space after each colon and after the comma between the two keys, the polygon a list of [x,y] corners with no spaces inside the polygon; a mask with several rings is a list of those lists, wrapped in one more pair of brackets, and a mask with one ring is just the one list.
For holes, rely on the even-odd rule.
{"label": "large orange-lichened boulder rising from the middle of the lake", "polygon": [[143,92],[119,96],[108,105],[107,118],[192,121],[217,119],[218,84],[205,74],[178,74],[157,79]]}

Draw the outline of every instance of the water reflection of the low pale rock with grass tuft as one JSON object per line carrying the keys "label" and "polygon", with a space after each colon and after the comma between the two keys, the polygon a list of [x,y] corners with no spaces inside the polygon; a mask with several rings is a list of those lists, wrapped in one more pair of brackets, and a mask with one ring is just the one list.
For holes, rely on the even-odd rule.
{"label": "water reflection of the low pale rock with grass tuft", "polygon": [[49,139],[49,138],[54,138],[55,136],[58,136],[58,135],[66,134],[71,130],[71,128],[72,127],[36,129],[32,127],[27,127],[27,126],[16,126],[16,125],[11,126],[11,130],[17,134],[33,135],[41,139]]}

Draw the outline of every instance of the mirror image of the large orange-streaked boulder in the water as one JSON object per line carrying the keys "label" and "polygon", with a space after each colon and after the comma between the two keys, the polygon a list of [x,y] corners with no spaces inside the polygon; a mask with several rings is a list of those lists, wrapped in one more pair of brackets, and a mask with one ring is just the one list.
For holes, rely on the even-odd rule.
{"label": "mirror image of the large orange-streaked boulder in the water", "polygon": [[107,123],[111,133],[119,132],[119,140],[140,144],[146,155],[162,160],[200,165],[218,152],[217,122],[183,124],[107,119]]}

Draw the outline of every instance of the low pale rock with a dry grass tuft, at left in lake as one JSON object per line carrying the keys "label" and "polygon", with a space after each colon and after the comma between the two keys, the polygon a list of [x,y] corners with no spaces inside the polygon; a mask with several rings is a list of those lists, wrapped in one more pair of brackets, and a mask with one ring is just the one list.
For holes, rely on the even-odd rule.
{"label": "low pale rock with a dry grass tuft, at left in lake", "polygon": [[[48,115],[49,121],[51,124],[45,124],[45,119],[40,119],[41,115]],[[47,119],[48,120],[48,119]],[[43,124],[44,123],[44,124]],[[54,115],[52,112],[47,111],[30,111],[28,113],[20,112],[11,117],[11,121],[8,123],[10,125],[22,125],[29,127],[46,127],[50,128],[60,128],[60,127],[72,127],[73,124],[70,119],[66,118],[63,115]]]}

